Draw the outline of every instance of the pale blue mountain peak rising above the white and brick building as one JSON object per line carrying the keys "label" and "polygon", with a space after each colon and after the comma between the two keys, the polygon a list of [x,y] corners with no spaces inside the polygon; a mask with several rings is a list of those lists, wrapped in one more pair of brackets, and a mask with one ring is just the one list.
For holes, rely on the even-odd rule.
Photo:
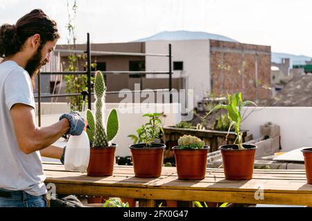
{"label": "pale blue mountain peak rising above the white and brick building", "polygon": [[138,39],[135,42],[141,41],[158,41],[158,40],[195,40],[195,39],[212,39],[212,40],[219,40],[219,41],[232,41],[238,42],[234,39],[230,39],[229,37],[225,37],[222,35],[210,34],[207,32],[190,32],[186,30],[177,30],[177,31],[164,31],[160,32],[156,35],[146,37],[144,39]]}

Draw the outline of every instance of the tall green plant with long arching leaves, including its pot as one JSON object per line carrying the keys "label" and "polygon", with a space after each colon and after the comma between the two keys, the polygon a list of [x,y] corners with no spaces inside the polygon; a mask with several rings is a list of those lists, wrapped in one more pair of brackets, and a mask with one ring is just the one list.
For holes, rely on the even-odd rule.
{"label": "tall green plant with long arching leaves, including its pot", "polygon": [[[226,109],[227,117],[231,124],[229,130],[234,127],[236,140],[234,144],[220,146],[219,149],[223,157],[225,178],[227,180],[250,180],[254,169],[254,153],[257,146],[243,144],[243,133],[241,132],[241,111],[244,106],[254,105],[254,102],[243,101],[241,93],[227,95],[228,104],[217,104],[207,113],[218,109]],[[229,134],[229,133],[228,133]]]}

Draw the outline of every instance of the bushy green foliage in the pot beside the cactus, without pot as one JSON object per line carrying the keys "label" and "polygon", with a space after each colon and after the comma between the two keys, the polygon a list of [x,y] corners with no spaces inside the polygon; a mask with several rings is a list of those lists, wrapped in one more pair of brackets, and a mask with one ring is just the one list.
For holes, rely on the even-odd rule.
{"label": "bushy green foliage in the pot beside the cactus, without pot", "polygon": [[134,144],[138,142],[145,143],[147,148],[155,142],[155,139],[159,138],[160,131],[164,133],[164,129],[162,128],[162,119],[160,118],[162,117],[161,113],[146,113],[143,117],[150,118],[148,123],[137,129],[137,135],[128,135],[128,137],[133,140]]}

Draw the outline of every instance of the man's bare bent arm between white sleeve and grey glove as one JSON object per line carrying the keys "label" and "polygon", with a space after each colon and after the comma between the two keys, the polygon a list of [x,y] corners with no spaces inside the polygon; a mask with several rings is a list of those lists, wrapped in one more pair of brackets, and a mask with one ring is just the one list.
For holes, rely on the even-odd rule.
{"label": "man's bare bent arm between white sleeve and grey glove", "polygon": [[67,119],[47,127],[35,126],[34,109],[25,104],[12,106],[10,115],[19,148],[26,154],[50,146],[69,130]]}

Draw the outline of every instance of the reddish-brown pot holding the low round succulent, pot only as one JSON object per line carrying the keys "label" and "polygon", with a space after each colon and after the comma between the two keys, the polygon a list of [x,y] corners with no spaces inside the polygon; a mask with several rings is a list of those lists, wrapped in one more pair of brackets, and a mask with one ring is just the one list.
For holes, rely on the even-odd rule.
{"label": "reddish-brown pot holding the low round succulent, pot only", "polygon": [[179,180],[202,180],[206,175],[209,146],[201,149],[181,150],[173,147],[177,178]]}

